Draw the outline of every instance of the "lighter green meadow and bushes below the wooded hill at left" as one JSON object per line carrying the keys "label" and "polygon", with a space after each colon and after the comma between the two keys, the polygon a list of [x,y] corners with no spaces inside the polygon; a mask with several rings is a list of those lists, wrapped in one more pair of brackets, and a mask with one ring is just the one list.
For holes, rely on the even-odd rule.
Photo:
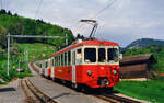
{"label": "lighter green meadow and bushes below the wooded hill at left", "polygon": [[[25,62],[25,49],[27,46],[28,49],[28,60],[38,60],[49,57],[55,52],[55,46],[47,44],[17,44],[20,48],[20,53],[16,56],[10,55],[10,76],[7,75],[7,54],[0,54],[0,79],[3,79],[4,82],[0,82],[0,84],[7,84],[14,78],[24,78],[31,77],[31,71],[26,68]],[[19,68],[24,70],[24,72],[17,72]]]}

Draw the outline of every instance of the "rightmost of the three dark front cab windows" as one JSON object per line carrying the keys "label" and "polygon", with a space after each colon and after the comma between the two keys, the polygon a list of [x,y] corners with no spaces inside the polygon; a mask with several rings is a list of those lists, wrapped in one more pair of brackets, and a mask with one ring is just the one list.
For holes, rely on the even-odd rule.
{"label": "rightmost of the three dark front cab windows", "polygon": [[117,48],[108,48],[107,49],[107,60],[114,60],[114,61],[118,61],[118,49]]}

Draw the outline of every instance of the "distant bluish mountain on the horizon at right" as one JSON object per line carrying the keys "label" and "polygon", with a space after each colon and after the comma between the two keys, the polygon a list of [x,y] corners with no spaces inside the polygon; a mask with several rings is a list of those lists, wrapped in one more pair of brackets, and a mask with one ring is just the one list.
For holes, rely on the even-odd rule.
{"label": "distant bluish mountain on the horizon at right", "polygon": [[141,38],[132,42],[130,45],[126,47],[126,49],[144,48],[149,46],[164,46],[164,41],[153,38]]}

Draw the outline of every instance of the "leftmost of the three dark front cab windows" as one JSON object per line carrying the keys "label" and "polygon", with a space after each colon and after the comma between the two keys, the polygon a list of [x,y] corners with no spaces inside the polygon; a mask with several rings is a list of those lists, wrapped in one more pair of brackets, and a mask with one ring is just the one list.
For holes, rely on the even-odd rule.
{"label": "leftmost of the three dark front cab windows", "polygon": [[96,48],[85,48],[84,49],[84,61],[85,62],[96,62]]}

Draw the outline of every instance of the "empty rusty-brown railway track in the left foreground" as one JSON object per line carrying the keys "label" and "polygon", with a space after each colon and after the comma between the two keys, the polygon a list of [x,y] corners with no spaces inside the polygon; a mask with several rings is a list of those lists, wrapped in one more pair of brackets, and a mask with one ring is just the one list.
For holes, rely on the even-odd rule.
{"label": "empty rusty-brown railway track in the left foreground", "polygon": [[21,87],[25,94],[25,103],[57,103],[51,98],[39,91],[28,79],[22,79]]}

